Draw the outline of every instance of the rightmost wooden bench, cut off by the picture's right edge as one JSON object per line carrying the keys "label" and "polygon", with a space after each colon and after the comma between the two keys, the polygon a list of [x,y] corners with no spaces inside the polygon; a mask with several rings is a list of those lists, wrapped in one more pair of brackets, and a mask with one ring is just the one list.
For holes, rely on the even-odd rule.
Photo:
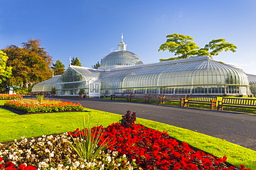
{"label": "rightmost wooden bench, cut off by the picture's right edge", "polygon": [[218,103],[218,110],[223,110],[223,107],[239,107],[247,109],[256,109],[256,99],[254,98],[228,98],[223,97]]}

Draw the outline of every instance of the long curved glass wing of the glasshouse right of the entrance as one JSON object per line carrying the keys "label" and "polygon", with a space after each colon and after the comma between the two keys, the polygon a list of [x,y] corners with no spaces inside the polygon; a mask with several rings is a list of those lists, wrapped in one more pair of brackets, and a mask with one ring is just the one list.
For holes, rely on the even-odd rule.
{"label": "long curved glass wing of the glasshouse right of the entrance", "polygon": [[206,56],[120,68],[104,73],[102,79],[102,89],[163,94],[232,96],[246,94],[248,85],[244,72]]}

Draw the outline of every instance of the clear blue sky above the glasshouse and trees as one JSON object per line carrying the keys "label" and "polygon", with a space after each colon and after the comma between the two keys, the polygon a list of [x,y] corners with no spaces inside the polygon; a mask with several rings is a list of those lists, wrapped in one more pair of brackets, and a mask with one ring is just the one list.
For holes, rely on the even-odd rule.
{"label": "clear blue sky above the glasshouse and trees", "polygon": [[158,47],[176,33],[192,36],[199,47],[226,39],[237,52],[213,59],[256,74],[255,0],[0,0],[0,6],[0,49],[41,39],[66,68],[69,56],[91,67],[118,50],[121,34],[127,50],[156,63],[174,56]]}

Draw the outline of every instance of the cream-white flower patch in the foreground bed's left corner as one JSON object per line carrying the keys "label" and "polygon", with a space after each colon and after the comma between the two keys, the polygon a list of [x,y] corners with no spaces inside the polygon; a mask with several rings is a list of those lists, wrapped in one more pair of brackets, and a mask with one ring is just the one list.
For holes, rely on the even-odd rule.
{"label": "cream-white flower patch in the foreground bed's left corner", "polygon": [[6,146],[0,143],[0,169],[133,169],[134,161],[118,156],[115,151],[104,151],[93,162],[79,158],[68,141],[67,133],[42,136],[28,140],[21,137]]}

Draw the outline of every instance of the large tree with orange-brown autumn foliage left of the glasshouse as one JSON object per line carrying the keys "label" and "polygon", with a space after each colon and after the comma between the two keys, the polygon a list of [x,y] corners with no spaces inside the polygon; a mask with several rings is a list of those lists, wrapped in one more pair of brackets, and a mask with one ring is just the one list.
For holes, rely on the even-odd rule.
{"label": "large tree with orange-brown autumn foliage left of the glasshouse", "polygon": [[28,87],[51,78],[51,56],[40,47],[40,40],[29,39],[21,47],[9,45],[3,52],[9,56],[8,66],[12,67],[9,85]]}

